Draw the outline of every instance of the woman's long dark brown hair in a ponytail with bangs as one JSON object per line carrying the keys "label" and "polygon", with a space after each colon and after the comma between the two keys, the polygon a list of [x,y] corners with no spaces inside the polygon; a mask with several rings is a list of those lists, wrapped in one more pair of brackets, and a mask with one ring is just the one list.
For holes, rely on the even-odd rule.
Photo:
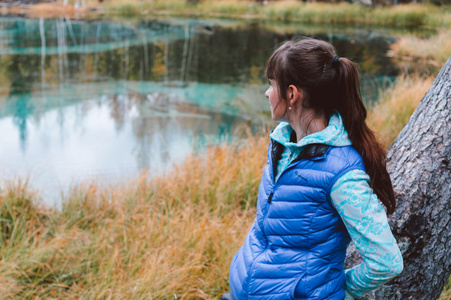
{"label": "woman's long dark brown hair in a ponytail with bangs", "polygon": [[288,101],[289,85],[295,85],[305,94],[303,105],[317,116],[329,120],[335,111],[340,113],[352,146],[362,156],[371,188],[392,213],[395,196],[385,151],[365,123],[367,112],[356,64],[336,57],[334,47],[325,41],[304,39],[282,44],[270,57],[265,73],[277,82],[283,100]]}

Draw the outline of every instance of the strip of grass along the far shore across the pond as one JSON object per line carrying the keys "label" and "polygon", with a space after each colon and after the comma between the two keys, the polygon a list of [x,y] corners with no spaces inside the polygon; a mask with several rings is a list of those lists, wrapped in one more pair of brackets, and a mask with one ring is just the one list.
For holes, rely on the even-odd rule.
{"label": "strip of grass along the far shore across the pond", "polygon": [[449,28],[451,6],[427,4],[398,5],[396,7],[365,7],[357,4],[303,3],[301,1],[270,1],[261,5],[255,1],[204,0],[189,3],[186,0],[106,0],[104,4],[87,0],[85,8],[75,8],[75,1],[62,6],[58,0],[52,4],[38,4],[31,11],[39,16],[98,11],[107,15],[142,17],[172,15],[184,17],[213,17],[275,20],[283,22],[371,24],[384,26],[427,26]]}

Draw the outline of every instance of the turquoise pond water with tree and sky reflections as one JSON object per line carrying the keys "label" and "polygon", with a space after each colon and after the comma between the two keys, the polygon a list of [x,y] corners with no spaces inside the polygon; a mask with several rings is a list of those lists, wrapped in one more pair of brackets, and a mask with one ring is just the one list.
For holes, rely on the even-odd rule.
{"label": "turquoise pond water with tree and sky reflections", "polygon": [[[165,172],[258,126],[266,61],[303,35],[258,23],[0,18],[0,175],[30,174],[57,195],[91,178]],[[386,34],[315,37],[360,62],[368,102],[398,72]]]}

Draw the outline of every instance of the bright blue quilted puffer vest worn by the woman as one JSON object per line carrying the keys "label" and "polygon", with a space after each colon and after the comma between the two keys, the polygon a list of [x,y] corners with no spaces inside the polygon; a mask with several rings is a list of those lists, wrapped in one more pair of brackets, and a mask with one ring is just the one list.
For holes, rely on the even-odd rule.
{"label": "bright blue quilted puffer vest worn by the woman", "polygon": [[233,297],[342,300],[350,237],[329,197],[338,178],[364,170],[362,158],[351,146],[308,145],[274,183],[280,147],[269,146],[257,217],[232,260]]}

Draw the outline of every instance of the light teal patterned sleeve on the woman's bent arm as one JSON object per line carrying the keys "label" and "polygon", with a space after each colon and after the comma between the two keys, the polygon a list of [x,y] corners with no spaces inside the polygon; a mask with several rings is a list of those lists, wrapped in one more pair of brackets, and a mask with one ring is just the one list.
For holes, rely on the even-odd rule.
{"label": "light teal patterned sleeve on the woman's bent arm", "polygon": [[346,299],[360,297],[402,272],[403,260],[387,215],[369,186],[368,174],[352,170],[331,190],[340,214],[363,262],[345,270]]}

